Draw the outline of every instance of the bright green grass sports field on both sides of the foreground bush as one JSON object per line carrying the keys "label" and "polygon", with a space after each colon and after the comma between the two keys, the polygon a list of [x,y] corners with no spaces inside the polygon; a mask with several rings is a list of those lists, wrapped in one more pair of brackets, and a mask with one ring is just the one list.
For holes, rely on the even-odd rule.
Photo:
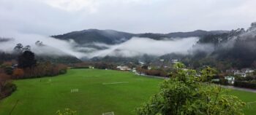
{"label": "bright green grass sports field on both sides of the foreground bush", "polygon": [[[162,79],[97,69],[71,69],[61,76],[17,80],[18,90],[0,102],[0,115],[10,114],[17,102],[12,115],[52,115],[64,108],[79,115],[135,114],[135,108],[157,92],[160,82]],[[72,89],[79,92],[70,92]],[[245,102],[256,101],[256,93],[233,90],[230,94]],[[255,114],[256,104],[244,110]]]}

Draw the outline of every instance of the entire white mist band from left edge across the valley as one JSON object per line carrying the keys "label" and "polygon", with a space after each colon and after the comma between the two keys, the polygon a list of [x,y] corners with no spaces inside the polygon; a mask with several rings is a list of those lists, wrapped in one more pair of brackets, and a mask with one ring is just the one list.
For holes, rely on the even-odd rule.
{"label": "entire white mist band from left edge across the valley", "polygon": [[[104,43],[91,43],[90,45],[85,44],[81,46],[72,40],[64,41],[37,34],[4,33],[1,34],[1,36],[13,38],[10,41],[0,42],[0,50],[4,52],[12,52],[15,45],[20,43],[23,44],[23,46],[30,45],[31,51],[37,55],[74,55],[78,58],[105,57],[107,55],[116,57],[135,57],[145,54],[160,56],[173,52],[187,54],[188,50],[191,49],[199,39],[197,37],[189,37],[154,40],[134,37],[120,44],[109,45]],[[35,45],[36,41],[42,41],[45,46],[38,47]],[[91,46],[104,48],[95,49]],[[83,50],[89,52],[84,52]]]}

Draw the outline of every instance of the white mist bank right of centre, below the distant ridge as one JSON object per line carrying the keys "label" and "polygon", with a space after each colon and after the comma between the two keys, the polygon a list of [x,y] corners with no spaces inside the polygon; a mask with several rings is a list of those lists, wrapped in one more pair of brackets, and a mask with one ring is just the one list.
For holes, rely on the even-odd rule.
{"label": "white mist bank right of centre, below the distant ridge", "polygon": [[[135,57],[140,55],[165,55],[168,53],[187,54],[188,49],[192,48],[198,41],[197,37],[189,37],[174,40],[154,40],[148,38],[134,37],[121,44],[108,45],[108,49],[91,52],[87,57],[104,57],[106,55],[118,57]],[[97,46],[107,46],[106,44],[95,44]]]}

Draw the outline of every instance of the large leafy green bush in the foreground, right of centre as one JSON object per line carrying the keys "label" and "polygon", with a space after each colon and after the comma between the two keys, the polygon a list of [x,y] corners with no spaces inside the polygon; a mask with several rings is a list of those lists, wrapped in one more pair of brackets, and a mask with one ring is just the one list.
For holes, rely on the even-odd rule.
{"label": "large leafy green bush in the foreground, right of centre", "polygon": [[195,70],[185,70],[177,63],[170,79],[162,82],[160,90],[140,108],[140,115],[240,115],[244,102],[236,96],[225,95],[222,87],[208,84],[214,69],[205,68],[200,77]]}

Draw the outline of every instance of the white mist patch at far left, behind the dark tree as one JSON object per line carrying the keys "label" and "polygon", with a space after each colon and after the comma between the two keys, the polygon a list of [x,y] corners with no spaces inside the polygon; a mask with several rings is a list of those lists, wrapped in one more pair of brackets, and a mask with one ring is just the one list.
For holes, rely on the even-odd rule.
{"label": "white mist patch at far left, behind the dark tree", "polygon": [[[10,41],[0,42],[0,51],[12,52],[16,44],[23,44],[23,46],[31,46],[31,51],[37,55],[75,55],[76,57],[83,57],[82,52],[75,52],[73,47],[76,45],[74,41],[63,41],[54,39],[48,36],[41,36],[38,34],[28,33],[1,33],[0,36],[5,38],[12,38]],[[36,41],[42,41],[45,46],[37,47]]]}

